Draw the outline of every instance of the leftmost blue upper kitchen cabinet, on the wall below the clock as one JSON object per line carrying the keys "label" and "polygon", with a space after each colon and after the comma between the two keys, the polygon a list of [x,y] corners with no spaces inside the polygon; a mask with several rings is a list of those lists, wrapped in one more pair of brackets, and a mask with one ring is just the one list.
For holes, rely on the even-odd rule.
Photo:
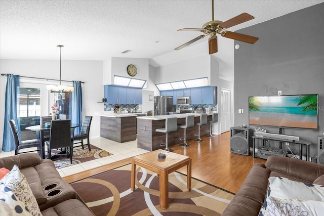
{"label": "leftmost blue upper kitchen cabinet, on the wall below the clock", "polygon": [[107,104],[127,104],[127,88],[105,85],[105,98]]}

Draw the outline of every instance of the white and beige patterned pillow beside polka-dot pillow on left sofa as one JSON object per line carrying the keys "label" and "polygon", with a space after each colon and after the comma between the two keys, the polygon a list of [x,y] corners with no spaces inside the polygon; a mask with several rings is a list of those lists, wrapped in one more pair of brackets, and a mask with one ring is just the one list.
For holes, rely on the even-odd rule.
{"label": "white and beige patterned pillow beside polka-dot pillow on left sofa", "polygon": [[14,165],[12,170],[0,180],[0,183],[4,183],[15,196],[23,202],[29,212],[33,216],[42,215],[41,210],[39,210],[36,198],[32,194],[32,191],[27,183],[26,177],[20,172],[17,165]]}

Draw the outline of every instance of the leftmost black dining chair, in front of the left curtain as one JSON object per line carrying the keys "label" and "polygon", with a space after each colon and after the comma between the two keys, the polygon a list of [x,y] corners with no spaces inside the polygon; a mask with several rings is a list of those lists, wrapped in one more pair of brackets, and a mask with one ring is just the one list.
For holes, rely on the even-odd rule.
{"label": "leftmost black dining chair, in front of the left curtain", "polygon": [[[17,129],[16,122],[12,119],[9,121],[9,124],[10,124],[10,129],[11,129],[12,135],[14,136],[15,145],[16,145],[15,155],[21,154],[21,153],[26,153],[26,152],[34,152],[34,151],[37,151],[37,153],[39,155],[42,154],[42,151],[41,151],[42,143],[39,139],[21,141],[21,138],[18,136],[18,129]],[[37,149],[19,152],[19,150],[21,150],[21,149],[32,148],[32,147],[37,147]]]}

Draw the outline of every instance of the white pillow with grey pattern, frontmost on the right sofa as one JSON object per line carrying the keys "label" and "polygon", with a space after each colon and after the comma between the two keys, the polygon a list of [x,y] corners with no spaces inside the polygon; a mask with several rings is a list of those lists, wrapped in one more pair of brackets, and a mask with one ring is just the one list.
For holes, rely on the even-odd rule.
{"label": "white pillow with grey pattern, frontmost on the right sofa", "polygon": [[263,215],[322,215],[323,212],[324,203],[321,201],[267,197],[267,208]]}

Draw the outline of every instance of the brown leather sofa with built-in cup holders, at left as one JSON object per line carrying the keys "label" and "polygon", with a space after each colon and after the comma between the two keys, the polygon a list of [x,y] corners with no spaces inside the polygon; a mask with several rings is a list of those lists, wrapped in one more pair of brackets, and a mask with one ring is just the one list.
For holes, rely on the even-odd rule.
{"label": "brown leather sofa with built-in cup holders, at left", "polygon": [[52,160],[42,160],[37,153],[0,158],[0,167],[11,170],[15,164],[26,177],[44,216],[93,215],[72,186],[62,180]]}

